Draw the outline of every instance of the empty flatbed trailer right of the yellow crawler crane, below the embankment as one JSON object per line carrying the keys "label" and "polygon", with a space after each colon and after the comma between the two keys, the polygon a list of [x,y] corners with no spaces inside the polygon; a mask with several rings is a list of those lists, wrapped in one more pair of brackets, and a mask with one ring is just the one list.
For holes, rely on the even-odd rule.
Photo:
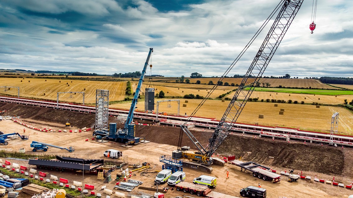
{"label": "empty flatbed trailer right of the yellow crawler crane, below the embankment", "polygon": [[259,163],[235,160],[234,155],[228,156],[228,162],[239,166],[241,171],[244,169],[244,171],[251,172],[254,177],[258,177],[259,179],[265,181],[272,180],[274,183],[281,181],[281,175],[271,172],[269,167]]}

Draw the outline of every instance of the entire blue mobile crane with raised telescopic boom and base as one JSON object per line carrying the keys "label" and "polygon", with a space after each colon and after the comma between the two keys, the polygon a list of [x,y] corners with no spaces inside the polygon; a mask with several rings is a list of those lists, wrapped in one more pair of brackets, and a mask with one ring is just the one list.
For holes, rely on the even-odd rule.
{"label": "entire blue mobile crane with raised telescopic boom and base", "polygon": [[[134,110],[136,108],[136,104],[137,104],[138,95],[140,94],[140,89],[142,87],[143,78],[145,77],[146,68],[148,66],[148,62],[150,60],[152,52],[153,52],[153,48],[150,48],[150,51],[148,52],[148,56],[147,56],[145,65],[143,67],[140,79],[138,81],[138,85],[136,87],[135,95],[132,99],[130,111],[127,115],[127,119],[124,124],[124,128],[117,129],[116,123],[109,123],[109,131],[106,131],[106,130],[93,131],[93,136],[96,136],[97,139],[113,140],[115,142],[125,143],[126,145],[139,143],[140,141],[145,139],[144,137],[142,137],[142,138],[135,137],[135,124],[132,123],[132,120],[133,120],[133,112],[134,112]],[[152,67],[152,65],[150,65],[150,67]]]}

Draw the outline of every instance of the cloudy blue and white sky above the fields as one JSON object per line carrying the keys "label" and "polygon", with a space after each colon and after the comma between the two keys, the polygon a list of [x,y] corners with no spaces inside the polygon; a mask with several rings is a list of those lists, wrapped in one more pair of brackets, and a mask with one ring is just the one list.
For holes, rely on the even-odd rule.
{"label": "cloudy blue and white sky above the fields", "polygon": [[[0,68],[221,76],[283,0],[1,0]],[[353,1],[304,0],[264,76],[353,77]],[[244,75],[269,31],[229,72]]]}

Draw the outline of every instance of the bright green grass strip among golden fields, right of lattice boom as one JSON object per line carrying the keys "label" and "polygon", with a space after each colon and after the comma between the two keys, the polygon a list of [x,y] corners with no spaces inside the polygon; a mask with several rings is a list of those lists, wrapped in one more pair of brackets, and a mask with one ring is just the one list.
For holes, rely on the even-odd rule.
{"label": "bright green grass strip among golden fields, right of lattice boom", "polygon": [[279,92],[279,93],[302,93],[302,94],[317,94],[317,95],[353,95],[353,91],[325,90],[325,89],[286,89],[286,88],[256,87],[255,91]]}

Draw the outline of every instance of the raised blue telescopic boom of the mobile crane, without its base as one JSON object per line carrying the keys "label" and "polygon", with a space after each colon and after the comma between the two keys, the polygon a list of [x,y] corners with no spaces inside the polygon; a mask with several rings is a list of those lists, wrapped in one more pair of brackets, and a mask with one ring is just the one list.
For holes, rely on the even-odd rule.
{"label": "raised blue telescopic boom of the mobile crane, without its base", "polygon": [[138,85],[136,87],[135,95],[134,95],[134,97],[132,99],[131,107],[130,107],[130,110],[129,110],[129,113],[127,115],[127,119],[126,119],[126,122],[125,122],[125,125],[124,125],[124,130],[127,130],[128,129],[128,125],[132,123],[133,112],[134,112],[136,104],[137,104],[138,95],[140,94],[140,89],[142,87],[143,78],[145,77],[146,68],[148,66],[148,62],[150,60],[152,52],[153,52],[153,48],[150,48],[150,51],[148,52],[148,56],[147,56],[147,59],[146,59],[146,62],[145,62],[145,66],[143,67],[143,70],[142,70],[142,73],[141,73],[141,76],[140,76],[140,80],[138,81]]}

